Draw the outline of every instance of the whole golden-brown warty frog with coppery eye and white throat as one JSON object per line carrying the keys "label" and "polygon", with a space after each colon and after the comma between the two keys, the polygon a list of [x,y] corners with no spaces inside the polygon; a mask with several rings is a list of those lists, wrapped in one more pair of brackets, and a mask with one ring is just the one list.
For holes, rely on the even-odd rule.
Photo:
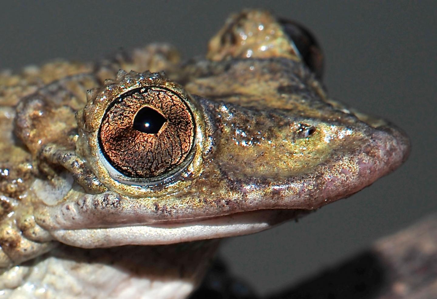
{"label": "whole golden-brown warty frog with coppery eye and white throat", "polygon": [[232,14],[205,58],[149,44],[0,73],[0,296],[187,298],[220,239],[398,168],[409,139],[329,98],[300,24]]}

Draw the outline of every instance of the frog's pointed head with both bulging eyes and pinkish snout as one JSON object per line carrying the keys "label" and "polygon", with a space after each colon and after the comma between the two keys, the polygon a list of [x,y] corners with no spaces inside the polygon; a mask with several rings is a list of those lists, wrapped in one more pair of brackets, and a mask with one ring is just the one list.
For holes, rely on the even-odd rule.
{"label": "frog's pointed head with both bulging eyes and pinkish snout", "polygon": [[35,180],[35,223],[77,247],[171,244],[264,230],[369,186],[408,139],[329,99],[321,57],[303,27],[248,10],[206,59],[118,72],[38,145],[58,167]]}

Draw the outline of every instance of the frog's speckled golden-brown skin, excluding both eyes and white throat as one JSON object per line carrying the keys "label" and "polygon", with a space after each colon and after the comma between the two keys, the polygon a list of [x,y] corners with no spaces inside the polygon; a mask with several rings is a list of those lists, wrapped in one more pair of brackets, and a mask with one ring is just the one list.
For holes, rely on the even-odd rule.
{"label": "frog's speckled golden-brown skin, excluding both eyes and white throat", "polygon": [[[186,100],[194,145],[176,172],[126,182],[102,159],[97,132],[114,98],[148,85]],[[409,148],[385,120],[330,100],[264,11],[228,21],[207,59],[181,64],[170,46],[149,45],[96,64],[0,73],[0,103],[3,269],[59,242],[171,244],[261,230],[202,234],[195,227],[244,213],[274,215],[261,218],[269,225],[296,217],[370,185]],[[167,234],[172,229],[177,233]],[[149,237],[158,230],[163,237]]]}

